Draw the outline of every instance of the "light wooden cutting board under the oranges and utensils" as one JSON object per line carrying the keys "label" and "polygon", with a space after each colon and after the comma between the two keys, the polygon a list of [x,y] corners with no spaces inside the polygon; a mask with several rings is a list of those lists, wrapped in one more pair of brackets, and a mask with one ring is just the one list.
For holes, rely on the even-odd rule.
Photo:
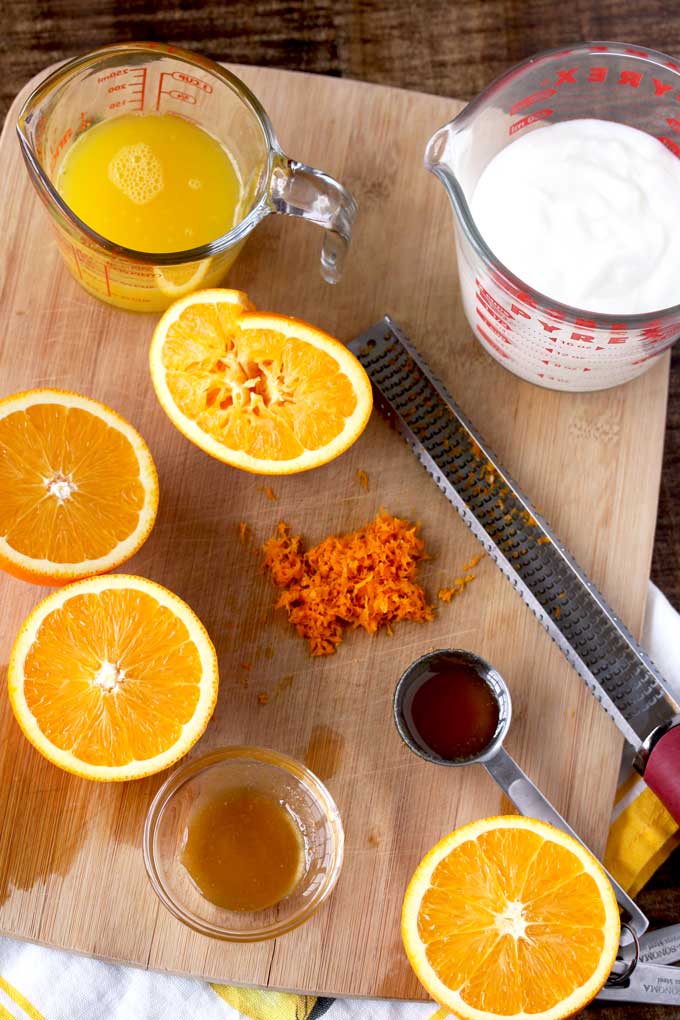
{"label": "light wooden cutting board under the oranges and utensils", "polygon": [[[614,609],[639,631],[655,531],[668,358],[605,393],[542,391],[509,374],[472,338],[461,309],[452,215],[422,166],[430,134],[461,108],[355,82],[258,67],[239,73],[271,114],[285,150],[356,194],[361,215],[348,270],[319,275],[320,232],[283,217],[258,227],[229,283],[257,305],[309,318],[349,340],[389,312],[532,495]],[[19,97],[20,100],[20,97]],[[17,100],[17,103],[19,102]],[[510,751],[600,851],[621,740],[492,562],[429,624],[394,636],[350,635],[311,659],[258,572],[257,548],[284,519],[310,543],[354,528],[380,507],[422,521],[432,599],[477,551],[470,532],[376,415],[337,461],[263,480],[211,460],[156,403],[147,351],[156,317],[85,294],[61,264],[21,165],[15,104],[0,142],[0,394],[39,385],[80,390],[127,416],[158,465],[158,522],[130,572],[166,584],[207,625],[220,658],[218,707],[197,748],[257,744],[306,761],[339,806],[347,856],[326,906],[275,944],[233,946],[182,927],[146,878],[142,826],[163,776],[126,785],[79,780],[28,745],[0,703],[0,930],[143,967],[307,991],[426,998],[400,940],[406,883],[456,825],[504,810],[480,768],[436,769],[401,743],[390,698],[429,649],[478,652],[514,699]],[[369,491],[357,471],[369,476]],[[0,577],[0,663],[45,593]],[[244,664],[250,666],[246,668]],[[267,694],[261,705],[258,695]]]}

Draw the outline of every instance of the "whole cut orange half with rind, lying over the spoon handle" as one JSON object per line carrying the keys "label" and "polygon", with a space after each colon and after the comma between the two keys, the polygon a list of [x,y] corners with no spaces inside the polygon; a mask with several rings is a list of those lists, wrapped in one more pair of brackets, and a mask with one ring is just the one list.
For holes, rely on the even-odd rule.
{"label": "whole cut orange half with rind, lying over the spoon handle", "polygon": [[505,815],[429,852],[407,889],[402,934],[419,979],[461,1020],[560,1020],[609,977],[619,908],[580,843]]}

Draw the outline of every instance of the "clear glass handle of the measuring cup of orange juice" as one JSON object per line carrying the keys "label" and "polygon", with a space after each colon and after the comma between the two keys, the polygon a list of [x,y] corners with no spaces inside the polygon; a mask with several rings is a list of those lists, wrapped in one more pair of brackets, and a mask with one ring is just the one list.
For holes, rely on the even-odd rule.
{"label": "clear glass handle of the measuring cup of orange juice", "polygon": [[354,196],[323,170],[281,154],[272,171],[269,202],[274,212],[301,216],[325,228],[321,274],[326,283],[336,284],[343,274],[357,215]]}

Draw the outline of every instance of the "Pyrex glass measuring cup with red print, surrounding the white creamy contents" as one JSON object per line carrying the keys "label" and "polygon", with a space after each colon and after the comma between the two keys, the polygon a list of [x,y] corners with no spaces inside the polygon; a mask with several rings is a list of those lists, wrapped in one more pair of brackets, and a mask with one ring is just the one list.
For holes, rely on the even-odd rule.
{"label": "Pyrex glass measuring cup with red print, surrounding the white creamy contents", "polygon": [[482,347],[516,375],[574,391],[632,379],[680,336],[680,303],[604,315],[534,291],[495,258],[475,225],[470,199],[482,170],[526,132],[577,117],[645,131],[680,157],[679,101],[680,63],[671,57],[623,43],[582,43],[511,68],[428,142],[425,165],[454,208],[467,319]]}

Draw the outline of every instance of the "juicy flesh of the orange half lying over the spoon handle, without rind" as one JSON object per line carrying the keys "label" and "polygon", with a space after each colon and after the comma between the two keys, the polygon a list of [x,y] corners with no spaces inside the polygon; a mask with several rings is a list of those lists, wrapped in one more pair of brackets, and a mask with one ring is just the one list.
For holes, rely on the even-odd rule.
{"label": "juicy flesh of the orange half lying over the spoon handle, without rind", "polygon": [[454,849],[430,881],[418,933],[440,980],[475,1009],[539,1013],[599,964],[600,894],[558,844],[526,829],[491,830]]}

